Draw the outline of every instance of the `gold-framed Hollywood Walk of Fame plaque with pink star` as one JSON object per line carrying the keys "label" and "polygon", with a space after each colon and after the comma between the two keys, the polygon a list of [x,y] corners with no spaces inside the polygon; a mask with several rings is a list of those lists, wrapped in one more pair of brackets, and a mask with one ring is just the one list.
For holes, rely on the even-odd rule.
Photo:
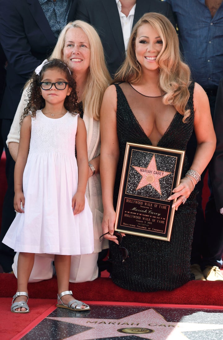
{"label": "gold-framed Hollywood Walk of Fame plaque with pink star", "polygon": [[185,151],[126,143],[115,229],[170,241]]}

